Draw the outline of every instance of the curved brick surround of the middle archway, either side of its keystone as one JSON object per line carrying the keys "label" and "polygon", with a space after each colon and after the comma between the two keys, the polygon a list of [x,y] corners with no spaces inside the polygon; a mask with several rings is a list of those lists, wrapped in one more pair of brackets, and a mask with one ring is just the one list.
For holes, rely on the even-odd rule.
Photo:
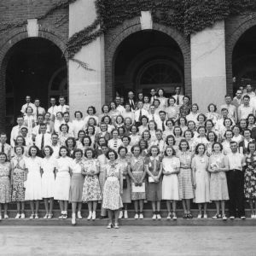
{"label": "curved brick surround of the middle archway, either side of its keystone", "polygon": [[[191,58],[190,44],[187,38],[182,33],[178,32],[173,27],[167,27],[158,23],[153,24],[153,30],[163,32],[174,39],[183,53],[184,59],[184,83],[186,93],[191,96]],[[113,77],[114,63],[118,54],[118,47],[125,38],[135,32],[142,31],[139,17],[125,20],[123,25],[117,26],[108,32],[105,37],[105,73],[106,73],[106,100],[110,101],[113,98]]]}

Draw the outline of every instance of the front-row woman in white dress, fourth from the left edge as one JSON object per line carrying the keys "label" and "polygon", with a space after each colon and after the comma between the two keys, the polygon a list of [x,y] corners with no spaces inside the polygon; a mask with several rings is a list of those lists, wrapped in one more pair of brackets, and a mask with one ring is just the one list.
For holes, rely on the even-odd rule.
{"label": "front-row woman in white dress, fourth from the left edge", "polygon": [[52,218],[53,199],[55,193],[55,167],[56,160],[52,156],[53,149],[49,146],[44,147],[44,159],[42,160],[42,197],[46,214],[44,218]]}

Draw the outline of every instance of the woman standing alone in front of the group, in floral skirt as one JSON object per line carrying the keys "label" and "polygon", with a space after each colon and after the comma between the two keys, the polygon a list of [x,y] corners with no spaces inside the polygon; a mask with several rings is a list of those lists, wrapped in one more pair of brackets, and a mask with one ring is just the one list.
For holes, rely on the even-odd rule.
{"label": "woman standing alone in front of the group, in floral skirt", "polygon": [[110,149],[106,154],[108,164],[106,165],[106,181],[103,190],[103,207],[108,209],[108,229],[119,228],[119,209],[123,207],[121,195],[123,194],[123,178],[121,166],[116,161],[118,154]]}

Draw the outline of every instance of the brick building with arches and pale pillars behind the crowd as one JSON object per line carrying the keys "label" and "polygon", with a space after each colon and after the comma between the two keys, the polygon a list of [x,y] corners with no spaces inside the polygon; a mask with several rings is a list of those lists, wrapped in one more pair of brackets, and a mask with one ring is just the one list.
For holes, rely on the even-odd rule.
{"label": "brick building with arches and pale pillars behind the crowd", "polygon": [[[171,94],[176,85],[205,111],[221,103],[239,84],[256,85],[256,17],[230,17],[186,38],[174,27],[151,23],[148,15],[121,26],[84,46],[75,56],[84,70],[67,60],[69,37],[96,18],[94,0],[78,0],[44,19],[36,19],[58,0],[3,0],[3,23],[25,22],[0,30],[0,130],[14,125],[26,95],[41,99],[64,95],[71,107],[98,112],[115,92],[147,93],[152,87]],[[150,15],[149,15],[150,16]],[[1,21],[2,22],[2,21]],[[236,77],[236,83],[233,81]]]}

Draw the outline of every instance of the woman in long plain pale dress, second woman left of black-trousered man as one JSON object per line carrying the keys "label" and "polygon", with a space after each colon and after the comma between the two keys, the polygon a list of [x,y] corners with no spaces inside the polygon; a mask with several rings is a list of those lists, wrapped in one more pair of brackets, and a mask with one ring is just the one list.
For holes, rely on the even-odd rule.
{"label": "woman in long plain pale dress, second woman left of black-trousered man", "polygon": [[209,159],[206,146],[199,143],[195,148],[195,157],[192,160],[192,171],[195,189],[195,203],[198,204],[199,214],[197,218],[202,218],[201,204],[204,204],[204,218],[207,218],[207,203],[210,202],[210,175],[207,170]]}

